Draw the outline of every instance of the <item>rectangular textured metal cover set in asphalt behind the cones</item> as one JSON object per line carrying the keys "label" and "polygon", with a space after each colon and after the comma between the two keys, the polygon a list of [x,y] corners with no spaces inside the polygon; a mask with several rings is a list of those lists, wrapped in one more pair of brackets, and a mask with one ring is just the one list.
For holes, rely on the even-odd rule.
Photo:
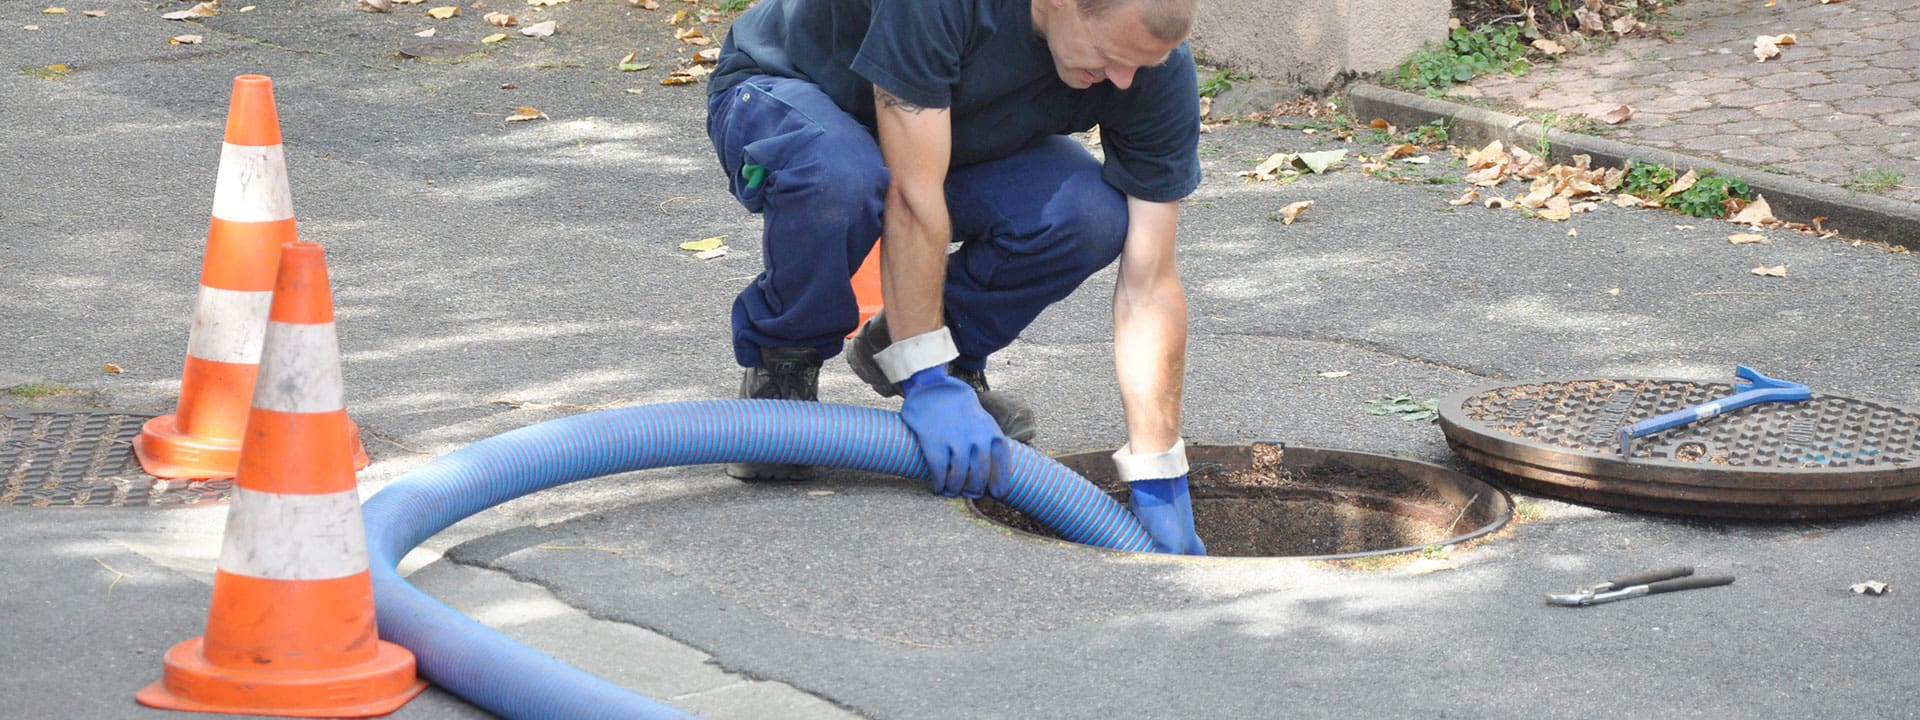
{"label": "rectangular textured metal cover set in asphalt behind the cones", "polygon": [[179,507],[232,497],[232,480],[159,480],[142,472],[132,440],[152,417],[0,413],[0,505]]}

